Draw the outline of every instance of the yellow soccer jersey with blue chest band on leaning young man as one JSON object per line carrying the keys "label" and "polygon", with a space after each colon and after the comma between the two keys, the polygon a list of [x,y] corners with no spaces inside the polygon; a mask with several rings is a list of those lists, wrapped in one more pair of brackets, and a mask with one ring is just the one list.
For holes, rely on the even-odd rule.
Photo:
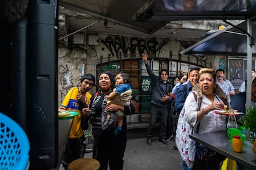
{"label": "yellow soccer jersey with blue chest band on leaning young man", "polygon": [[[79,139],[81,136],[83,136],[83,129],[81,128],[81,121],[80,118],[82,116],[82,105],[77,100],[77,94],[79,94],[78,87],[72,87],[72,89],[67,92],[67,95],[65,96],[63,102],[61,103],[61,109],[64,110],[74,110],[79,113],[79,115],[75,116],[73,119],[72,126],[70,128],[69,132],[69,138],[72,139]],[[85,94],[85,102],[90,102],[92,95],[90,93]]]}

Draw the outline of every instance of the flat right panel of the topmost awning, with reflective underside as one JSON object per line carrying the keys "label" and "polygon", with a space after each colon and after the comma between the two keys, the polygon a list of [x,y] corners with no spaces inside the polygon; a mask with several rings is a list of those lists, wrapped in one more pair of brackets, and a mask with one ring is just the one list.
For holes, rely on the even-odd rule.
{"label": "flat right panel of the topmost awning, with reflective underside", "polygon": [[148,0],[134,20],[246,20],[255,7],[255,0]]}

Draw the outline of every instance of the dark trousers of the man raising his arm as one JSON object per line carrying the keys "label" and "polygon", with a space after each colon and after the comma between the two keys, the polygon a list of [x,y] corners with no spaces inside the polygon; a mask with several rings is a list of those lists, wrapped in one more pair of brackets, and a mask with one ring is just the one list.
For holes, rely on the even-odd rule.
{"label": "dark trousers of the man raising his arm", "polygon": [[160,139],[165,139],[166,136],[166,121],[168,116],[168,107],[158,107],[151,103],[151,120],[148,124],[147,137],[153,137],[153,127],[155,126],[157,115],[160,114]]}

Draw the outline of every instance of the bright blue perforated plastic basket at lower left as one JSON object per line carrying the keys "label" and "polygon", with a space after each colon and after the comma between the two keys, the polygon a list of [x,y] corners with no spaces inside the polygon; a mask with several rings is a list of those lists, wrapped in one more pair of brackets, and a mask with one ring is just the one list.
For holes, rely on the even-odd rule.
{"label": "bright blue perforated plastic basket at lower left", "polygon": [[26,169],[30,144],[19,124],[0,113],[0,169]]}

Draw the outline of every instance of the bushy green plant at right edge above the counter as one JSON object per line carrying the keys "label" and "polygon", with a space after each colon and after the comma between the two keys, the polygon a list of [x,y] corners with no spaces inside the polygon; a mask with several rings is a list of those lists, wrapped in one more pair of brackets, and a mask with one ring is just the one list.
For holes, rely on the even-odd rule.
{"label": "bushy green plant at right edge above the counter", "polygon": [[256,107],[247,109],[247,113],[244,115],[243,126],[247,131],[247,140],[254,144],[256,132]]}

